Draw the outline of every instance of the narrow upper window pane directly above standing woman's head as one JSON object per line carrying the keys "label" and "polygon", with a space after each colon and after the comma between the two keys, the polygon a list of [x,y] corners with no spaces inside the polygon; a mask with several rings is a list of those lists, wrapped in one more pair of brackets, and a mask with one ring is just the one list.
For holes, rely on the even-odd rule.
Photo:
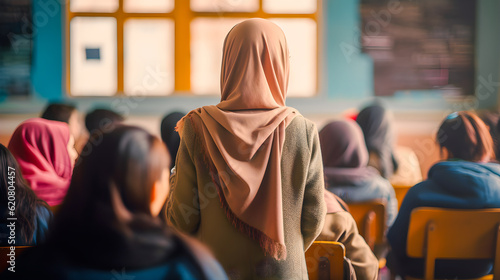
{"label": "narrow upper window pane directly above standing woman's head", "polygon": [[196,12],[255,12],[258,0],[191,0],[191,10]]}

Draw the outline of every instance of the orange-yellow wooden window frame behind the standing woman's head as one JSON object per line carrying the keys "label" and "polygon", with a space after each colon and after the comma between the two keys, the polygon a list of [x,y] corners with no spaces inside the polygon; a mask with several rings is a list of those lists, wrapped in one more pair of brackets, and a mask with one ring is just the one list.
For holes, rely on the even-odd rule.
{"label": "orange-yellow wooden window frame behind the standing woman's head", "polygon": [[[71,1],[71,0],[70,0]],[[117,91],[115,94],[107,97],[116,96],[128,96],[124,92],[124,56],[123,56],[123,34],[125,21],[128,19],[171,19],[174,22],[174,91],[166,95],[145,95],[144,97],[168,97],[168,96],[212,96],[210,95],[198,95],[191,91],[191,22],[196,18],[218,18],[218,17],[228,17],[228,18],[304,18],[312,19],[316,22],[316,83],[315,89],[311,96],[304,97],[316,97],[319,92],[319,77],[320,72],[320,61],[319,61],[319,50],[320,46],[320,34],[322,34],[322,23],[320,19],[320,11],[322,11],[322,1],[316,1],[316,11],[314,13],[267,13],[263,10],[263,1],[258,0],[258,10],[254,12],[197,12],[191,10],[189,0],[174,0],[174,7],[172,11],[165,13],[131,13],[125,12],[123,8],[124,0],[118,0],[118,8],[115,12],[72,12],[70,8],[70,3],[66,5],[66,16],[64,21],[65,26],[65,81],[66,81],[66,93],[71,97],[101,97],[95,95],[73,95],[71,93],[71,75],[70,75],[70,24],[71,20],[75,17],[112,17],[116,20],[116,70],[117,70]],[[186,47],[189,46],[189,47]],[[214,93],[216,95],[218,93]]]}

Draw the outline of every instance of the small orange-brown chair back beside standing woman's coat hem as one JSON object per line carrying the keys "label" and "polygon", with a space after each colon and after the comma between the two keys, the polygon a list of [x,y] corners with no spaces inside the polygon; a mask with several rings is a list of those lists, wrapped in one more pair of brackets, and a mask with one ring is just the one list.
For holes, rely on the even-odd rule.
{"label": "small orange-brown chair back beside standing woman's coat hem", "polygon": [[333,241],[314,241],[306,251],[307,274],[311,280],[342,280],[345,247]]}

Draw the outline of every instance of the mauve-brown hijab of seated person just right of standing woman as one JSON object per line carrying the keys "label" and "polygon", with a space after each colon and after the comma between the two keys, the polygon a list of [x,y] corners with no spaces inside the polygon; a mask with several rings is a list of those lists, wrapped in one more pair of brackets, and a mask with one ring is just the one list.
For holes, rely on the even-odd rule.
{"label": "mauve-brown hijab of seated person just right of standing woman", "polygon": [[330,187],[355,185],[377,175],[368,167],[368,151],[354,121],[333,121],[319,132],[325,179]]}

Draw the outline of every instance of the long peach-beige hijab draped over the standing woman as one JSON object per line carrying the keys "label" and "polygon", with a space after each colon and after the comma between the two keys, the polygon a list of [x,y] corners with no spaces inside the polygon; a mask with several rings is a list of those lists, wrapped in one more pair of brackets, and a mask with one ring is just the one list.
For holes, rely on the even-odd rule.
{"label": "long peach-beige hijab draped over the standing woman", "polygon": [[[189,113],[231,223],[276,259],[286,258],[281,198],[289,55],[283,31],[264,19],[237,24],[224,41],[221,102]],[[178,130],[182,138],[182,125]]]}

